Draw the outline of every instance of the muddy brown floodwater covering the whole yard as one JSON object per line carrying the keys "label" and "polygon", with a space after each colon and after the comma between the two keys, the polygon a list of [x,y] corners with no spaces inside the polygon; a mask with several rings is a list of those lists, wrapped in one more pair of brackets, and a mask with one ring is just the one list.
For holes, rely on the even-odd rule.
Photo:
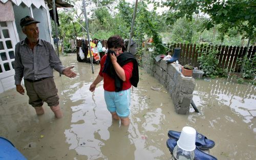
{"label": "muddy brown floodwater covering the whole yard", "polygon": [[99,65],[92,74],[90,64],[76,61],[75,55],[61,60],[79,74],[69,79],[54,72],[63,118],[55,119],[46,103],[45,114],[36,116],[28,96],[15,89],[0,94],[0,136],[28,159],[169,160],[167,132],[184,126],[214,140],[210,154],[220,160],[256,159],[255,85],[232,78],[196,80],[193,99],[200,113],[191,108],[189,115],[178,115],[167,90],[140,69],[131,95],[131,124],[124,127],[106,109],[103,83],[89,91]]}

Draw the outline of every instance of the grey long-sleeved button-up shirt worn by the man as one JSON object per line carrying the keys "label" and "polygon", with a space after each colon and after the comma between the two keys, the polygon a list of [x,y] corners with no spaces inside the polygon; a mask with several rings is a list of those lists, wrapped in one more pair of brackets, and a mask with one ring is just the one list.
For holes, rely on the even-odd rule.
{"label": "grey long-sleeved button-up shirt worn by the man", "polygon": [[60,74],[65,69],[51,43],[39,39],[33,51],[27,43],[27,38],[16,44],[14,61],[15,85],[20,84],[23,77],[31,80],[53,77],[52,68]]}

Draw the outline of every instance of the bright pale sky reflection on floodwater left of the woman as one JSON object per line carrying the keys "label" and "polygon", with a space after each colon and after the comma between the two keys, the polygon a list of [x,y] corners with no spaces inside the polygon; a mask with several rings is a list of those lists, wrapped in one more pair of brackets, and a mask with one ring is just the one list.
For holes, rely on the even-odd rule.
{"label": "bright pale sky reflection on floodwater left of the woman", "polygon": [[[102,87],[96,89],[99,92],[92,94],[89,91],[90,84],[84,84],[71,95],[71,101],[78,103],[77,106],[72,106],[71,128],[65,130],[67,143],[71,144],[70,149],[76,150],[80,155],[86,155],[88,159],[97,159],[105,157],[100,150],[102,142],[95,139],[95,133],[105,134],[110,121],[104,121],[106,113],[105,105],[102,103]],[[97,99],[97,104],[92,99]],[[111,117],[108,117],[109,119]]]}

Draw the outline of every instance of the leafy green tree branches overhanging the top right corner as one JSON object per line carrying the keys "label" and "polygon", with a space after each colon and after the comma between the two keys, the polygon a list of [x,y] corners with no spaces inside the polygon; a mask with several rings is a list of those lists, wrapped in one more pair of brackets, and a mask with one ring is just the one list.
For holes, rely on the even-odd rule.
{"label": "leafy green tree branches overhanging the top right corner", "polygon": [[150,1],[156,6],[169,7],[169,12],[165,14],[169,24],[182,17],[189,19],[195,14],[206,14],[209,16],[204,22],[204,28],[209,30],[219,25],[219,32],[225,34],[229,29],[239,29],[245,37],[253,39],[256,37],[256,5],[254,0],[173,0],[165,1],[163,4]]}

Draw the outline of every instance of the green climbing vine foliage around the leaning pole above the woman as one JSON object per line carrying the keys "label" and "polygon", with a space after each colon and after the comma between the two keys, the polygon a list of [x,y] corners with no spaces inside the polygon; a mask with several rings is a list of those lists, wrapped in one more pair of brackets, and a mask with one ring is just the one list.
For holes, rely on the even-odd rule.
{"label": "green climbing vine foliage around the leaning pole above the woman", "polygon": [[[144,36],[153,37],[156,54],[165,54],[166,48],[162,42],[159,31],[161,30],[161,22],[159,16],[154,11],[146,10],[147,6],[142,2],[138,3],[136,19],[134,24],[133,39],[139,43]],[[117,32],[124,38],[129,38],[129,33],[132,26],[134,4],[126,3],[124,0],[118,5],[119,13],[116,18],[119,19],[119,27]],[[120,23],[121,22],[121,23]]]}

